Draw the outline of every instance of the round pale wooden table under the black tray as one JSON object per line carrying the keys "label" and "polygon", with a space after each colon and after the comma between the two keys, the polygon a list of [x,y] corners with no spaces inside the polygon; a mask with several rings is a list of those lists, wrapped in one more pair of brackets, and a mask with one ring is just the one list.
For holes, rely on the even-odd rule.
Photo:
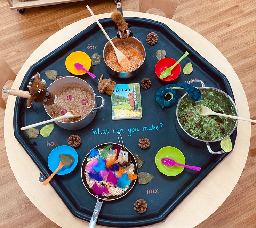
{"label": "round pale wooden table under the black tray", "polygon": [[[149,18],[165,23],[185,42],[226,75],[232,87],[240,116],[250,118],[249,107],[241,82],[226,58],[203,36],[171,19],[137,12],[124,12],[126,17]],[[98,19],[111,13],[97,15]],[[92,17],[77,21],[59,30],[43,42],[26,60],[13,89],[18,89],[28,68],[51,51],[94,23]],[[13,113],[16,97],[9,96],[5,111],[5,145],[11,169],[30,201],[50,220],[61,227],[86,227],[88,222],[74,217],[55,190],[39,182],[40,170],[14,137]],[[229,196],[243,171],[250,144],[250,123],[238,122],[237,140],[233,152],[218,164],[208,176],[180,203],[165,222],[148,227],[194,227],[208,218]],[[100,226],[99,226],[100,227]]]}

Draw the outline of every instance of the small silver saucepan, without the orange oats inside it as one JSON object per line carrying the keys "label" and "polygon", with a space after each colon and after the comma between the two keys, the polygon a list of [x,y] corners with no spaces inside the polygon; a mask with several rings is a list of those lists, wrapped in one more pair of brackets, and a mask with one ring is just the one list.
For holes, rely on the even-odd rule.
{"label": "small silver saucepan, without the orange oats inside it", "polygon": [[115,44],[115,46],[117,44],[123,44],[123,45],[126,45],[126,46],[129,46],[131,48],[133,48],[134,50],[138,51],[138,53],[141,55],[142,59],[143,59],[143,62],[142,64],[134,69],[133,71],[129,71],[129,72],[120,72],[120,71],[116,71],[114,70],[113,68],[111,68],[109,65],[107,65],[106,63],[106,59],[105,59],[105,52],[107,50],[109,50],[112,46],[110,44],[110,42],[107,42],[105,44],[105,47],[103,49],[103,59],[104,59],[104,62],[106,64],[106,69],[107,71],[112,75],[112,76],[115,76],[117,78],[132,78],[136,75],[138,75],[141,70],[142,70],[142,66],[144,64],[144,61],[145,61],[145,58],[146,58],[146,51],[145,51],[145,48],[142,44],[141,41],[139,41],[137,38],[135,38],[134,36],[131,36],[127,39],[119,39],[117,37],[114,37],[111,39],[113,41],[113,43]]}

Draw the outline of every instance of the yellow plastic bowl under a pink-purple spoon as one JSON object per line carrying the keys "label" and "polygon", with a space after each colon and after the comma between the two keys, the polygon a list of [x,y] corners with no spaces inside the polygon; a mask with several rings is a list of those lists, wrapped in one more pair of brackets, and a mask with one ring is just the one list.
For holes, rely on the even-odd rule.
{"label": "yellow plastic bowl under a pink-purple spoon", "polygon": [[83,75],[86,74],[86,72],[83,70],[77,70],[77,68],[75,68],[74,66],[75,63],[81,63],[83,67],[85,67],[85,69],[89,71],[91,67],[91,58],[85,52],[82,51],[72,52],[66,58],[65,65],[67,70],[75,75]]}

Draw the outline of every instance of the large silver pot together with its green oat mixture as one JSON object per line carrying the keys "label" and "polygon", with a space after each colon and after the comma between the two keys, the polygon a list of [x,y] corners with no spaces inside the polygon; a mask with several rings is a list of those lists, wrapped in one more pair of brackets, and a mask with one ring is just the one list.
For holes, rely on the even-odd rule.
{"label": "large silver pot together with its green oat mixture", "polygon": [[176,109],[176,129],[179,135],[195,146],[207,146],[212,154],[225,153],[223,150],[214,152],[210,148],[211,142],[221,141],[230,136],[237,127],[237,120],[222,116],[201,116],[201,105],[214,112],[238,116],[237,107],[229,95],[213,87],[198,87],[202,93],[200,102],[189,99],[185,93],[178,102]]}

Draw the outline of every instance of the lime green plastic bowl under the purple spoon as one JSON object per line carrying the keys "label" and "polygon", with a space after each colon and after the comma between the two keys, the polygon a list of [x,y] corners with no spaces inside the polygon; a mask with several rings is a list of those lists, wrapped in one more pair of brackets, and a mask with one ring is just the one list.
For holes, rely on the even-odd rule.
{"label": "lime green plastic bowl under the purple spoon", "polygon": [[185,165],[186,163],[185,157],[179,149],[173,146],[163,147],[155,155],[155,164],[157,165],[158,170],[161,173],[165,174],[166,176],[176,176],[184,170],[184,167],[182,166],[174,165],[173,167],[169,167],[164,165],[161,162],[162,158],[171,158],[171,159],[174,159],[175,162]]}

